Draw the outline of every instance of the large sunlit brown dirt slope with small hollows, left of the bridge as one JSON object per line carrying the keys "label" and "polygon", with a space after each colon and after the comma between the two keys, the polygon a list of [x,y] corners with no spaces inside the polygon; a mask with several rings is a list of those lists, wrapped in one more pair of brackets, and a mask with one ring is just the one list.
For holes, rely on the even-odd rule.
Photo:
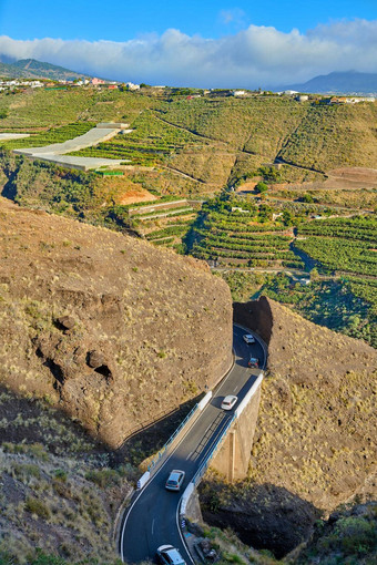
{"label": "large sunlit brown dirt slope with small hollows, left of the bridge", "polygon": [[118,446],[231,362],[227,286],[200,261],[0,198],[0,380]]}

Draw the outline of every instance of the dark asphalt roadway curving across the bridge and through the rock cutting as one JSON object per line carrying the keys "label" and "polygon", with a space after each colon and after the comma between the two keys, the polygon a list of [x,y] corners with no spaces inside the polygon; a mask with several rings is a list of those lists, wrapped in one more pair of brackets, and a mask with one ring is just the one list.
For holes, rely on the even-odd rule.
{"label": "dark asphalt roadway curving across the bridge and through the rock cutting", "polygon": [[[261,372],[261,369],[247,367],[251,355],[259,359],[261,368],[265,363],[262,345],[245,343],[242,339],[245,330],[234,326],[235,362],[232,371],[214,390],[211,402],[131,505],[121,533],[121,554],[124,562],[131,564],[154,559],[160,545],[171,544],[180,549],[187,564],[192,563],[177,523],[179,502],[207,452],[233,417],[234,410]],[[235,394],[238,401],[233,410],[224,411],[221,403],[227,394]],[[165,490],[167,475],[173,469],[186,473],[179,493]]]}

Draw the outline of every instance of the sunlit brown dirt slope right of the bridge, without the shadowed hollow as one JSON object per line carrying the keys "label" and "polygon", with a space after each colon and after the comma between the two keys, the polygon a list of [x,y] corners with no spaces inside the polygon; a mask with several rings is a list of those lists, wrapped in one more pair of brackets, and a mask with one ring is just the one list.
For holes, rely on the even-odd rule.
{"label": "sunlit brown dirt slope right of the bridge, without the shadowed hollow", "polygon": [[332,511],[375,472],[376,351],[266,298],[235,317],[271,320],[251,476]]}

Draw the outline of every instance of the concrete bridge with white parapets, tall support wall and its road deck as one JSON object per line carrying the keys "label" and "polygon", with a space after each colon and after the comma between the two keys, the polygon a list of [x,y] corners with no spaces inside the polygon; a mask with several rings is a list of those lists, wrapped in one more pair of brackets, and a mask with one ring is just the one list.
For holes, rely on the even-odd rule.
{"label": "concrete bridge with white parapets, tall support wall and its road deck", "polygon": [[[234,326],[234,363],[227,376],[194,407],[140,477],[137,491],[125,513],[120,538],[123,561],[140,563],[154,558],[159,546],[179,548],[186,563],[194,563],[184,537],[184,521],[195,508],[195,490],[208,466],[230,481],[245,477],[249,464],[261,398],[266,347],[255,335],[247,345],[244,327]],[[248,367],[249,357],[259,368]],[[224,411],[222,400],[237,397],[233,410]],[[183,494],[165,490],[173,469],[185,472]]]}

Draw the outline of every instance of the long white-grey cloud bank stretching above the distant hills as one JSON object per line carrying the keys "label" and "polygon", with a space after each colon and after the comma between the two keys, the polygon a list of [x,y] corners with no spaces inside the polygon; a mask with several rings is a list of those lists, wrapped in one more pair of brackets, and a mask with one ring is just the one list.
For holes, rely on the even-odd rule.
{"label": "long white-grey cloud bank stretching above the distant hills", "polygon": [[337,21],[303,34],[249,25],[220,39],[166,30],[124,42],[13,40],[0,55],[38,59],[119,81],[202,88],[267,88],[332,71],[377,72],[377,20]]}

